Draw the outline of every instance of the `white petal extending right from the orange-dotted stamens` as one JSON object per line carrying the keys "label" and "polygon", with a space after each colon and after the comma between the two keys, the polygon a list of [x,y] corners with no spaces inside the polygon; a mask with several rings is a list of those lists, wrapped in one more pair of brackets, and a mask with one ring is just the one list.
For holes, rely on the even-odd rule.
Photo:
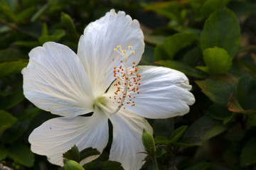
{"label": "white petal extending right from the orange-dotted stamens", "polygon": [[[185,74],[166,67],[137,68],[137,73],[141,75],[141,85],[139,94],[136,91],[131,95],[135,106],[124,103],[123,107],[145,118],[171,118],[188,113],[189,106],[195,102],[195,98],[188,91],[191,85]],[[116,86],[110,86],[105,96],[113,96],[116,90]],[[114,101],[113,97],[112,100]]]}

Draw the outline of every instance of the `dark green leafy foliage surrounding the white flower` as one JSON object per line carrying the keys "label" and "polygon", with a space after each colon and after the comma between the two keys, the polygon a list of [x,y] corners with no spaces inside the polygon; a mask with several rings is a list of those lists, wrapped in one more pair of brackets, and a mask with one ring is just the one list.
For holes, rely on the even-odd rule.
{"label": "dark green leafy foliage surrounding the white flower", "polygon": [[[30,150],[28,135],[54,115],[24,98],[21,69],[28,52],[47,41],[76,52],[85,26],[111,8],[141,23],[146,42],[141,64],[177,69],[193,86],[196,103],[190,113],[149,120],[159,169],[256,169],[253,0],[0,0],[0,166],[60,169]],[[83,167],[76,162],[98,152],[79,153],[74,147],[64,154],[64,168],[122,169],[107,161],[110,146],[111,141]],[[142,169],[153,169],[151,159]]]}

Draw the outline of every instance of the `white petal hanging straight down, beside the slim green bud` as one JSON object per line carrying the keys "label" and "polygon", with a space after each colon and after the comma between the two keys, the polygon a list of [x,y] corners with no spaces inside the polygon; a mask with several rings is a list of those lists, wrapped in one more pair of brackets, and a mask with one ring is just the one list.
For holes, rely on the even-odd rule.
{"label": "white petal hanging straight down, beside the slim green bud", "polygon": [[146,119],[121,109],[110,115],[113,125],[113,141],[110,149],[110,160],[121,162],[125,170],[140,169],[146,154],[142,144],[142,132],[153,130]]}

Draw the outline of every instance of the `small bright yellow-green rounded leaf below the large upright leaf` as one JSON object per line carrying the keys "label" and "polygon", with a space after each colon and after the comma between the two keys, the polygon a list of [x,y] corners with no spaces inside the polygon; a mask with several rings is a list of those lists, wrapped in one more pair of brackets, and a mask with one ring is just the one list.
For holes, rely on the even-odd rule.
{"label": "small bright yellow-green rounded leaf below the large upright leaf", "polygon": [[210,74],[223,74],[232,66],[232,57],[219,47],[203,50],[203,60],[206,62]]}

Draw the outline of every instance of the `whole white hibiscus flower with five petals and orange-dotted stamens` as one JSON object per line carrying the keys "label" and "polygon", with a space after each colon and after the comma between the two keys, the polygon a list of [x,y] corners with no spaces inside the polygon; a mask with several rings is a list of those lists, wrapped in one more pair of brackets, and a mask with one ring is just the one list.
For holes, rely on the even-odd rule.
{"label": "whole white hibiscus flower with five petals and orange-dotted stamens", "polygon": [[[143,117],[184,115],[195,101],[183,73],[165,67],[136,67],[143,52],[139,22],[114,10],[85,28],[78,55],[55,42],[31,50],[28,66],[22,70],[24,94],[38,108],[63,116],[33,130],[28,139],[31,150],[60,166],[63,152],[73,145],[80,151],[93,147],[102,152],[110,120],[110,160],[121,162],[124,169],[141,168],[146,157],[138,153],[144,151],[142,131],[152,134]],[[92,112],[92,116],[80,116]]]}

